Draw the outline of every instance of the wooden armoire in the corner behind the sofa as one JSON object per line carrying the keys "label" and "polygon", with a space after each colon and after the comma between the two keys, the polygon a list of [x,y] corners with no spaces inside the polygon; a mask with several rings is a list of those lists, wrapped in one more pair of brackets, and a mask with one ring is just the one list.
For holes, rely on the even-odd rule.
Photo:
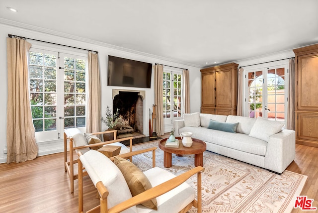
{"label": "wooden armoire in the corner behind the sofa", "polygon": [[236,115],[238,64],[230,63],[201,71],[201,113]]}

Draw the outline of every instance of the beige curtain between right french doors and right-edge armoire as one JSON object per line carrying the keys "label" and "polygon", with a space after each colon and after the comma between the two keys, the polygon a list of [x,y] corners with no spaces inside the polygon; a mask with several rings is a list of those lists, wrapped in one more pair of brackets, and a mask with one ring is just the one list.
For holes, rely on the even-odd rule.
{"label": "beige curtain between right french doors and right-edge armoire", "polygon": [[295,130],[295,58],[289,59],[288,65],[288,111],[287,111],[287,129]]}

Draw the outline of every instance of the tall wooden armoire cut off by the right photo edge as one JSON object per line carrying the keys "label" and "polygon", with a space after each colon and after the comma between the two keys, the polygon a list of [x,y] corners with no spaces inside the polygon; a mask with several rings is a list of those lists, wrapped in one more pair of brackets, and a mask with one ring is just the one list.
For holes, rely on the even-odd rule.
{"label": "tall wooden armoire cut off by the right photo edge", "polygon": [[293,51],[296,143],[318,147],[318,44]]}

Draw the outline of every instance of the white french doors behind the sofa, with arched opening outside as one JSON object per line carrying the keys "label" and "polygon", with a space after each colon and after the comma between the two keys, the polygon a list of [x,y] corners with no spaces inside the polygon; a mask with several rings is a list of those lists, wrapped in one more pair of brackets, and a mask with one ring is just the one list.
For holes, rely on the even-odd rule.
{"label": "white french doors behind the sofa, with arched opening outside", "polygon": [[287,64],[245,72],[244,115],[286,121]]}

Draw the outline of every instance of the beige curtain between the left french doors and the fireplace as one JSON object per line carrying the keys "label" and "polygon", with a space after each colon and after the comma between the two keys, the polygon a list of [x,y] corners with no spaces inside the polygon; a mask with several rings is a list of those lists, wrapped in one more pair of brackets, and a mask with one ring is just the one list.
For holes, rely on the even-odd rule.
{"label": "beige curtain between the left french doors and the fireplace", "polygon": [[98,54],[88,52],[88,97],[86,132],[99,132],[100,113],[100,77]]}

